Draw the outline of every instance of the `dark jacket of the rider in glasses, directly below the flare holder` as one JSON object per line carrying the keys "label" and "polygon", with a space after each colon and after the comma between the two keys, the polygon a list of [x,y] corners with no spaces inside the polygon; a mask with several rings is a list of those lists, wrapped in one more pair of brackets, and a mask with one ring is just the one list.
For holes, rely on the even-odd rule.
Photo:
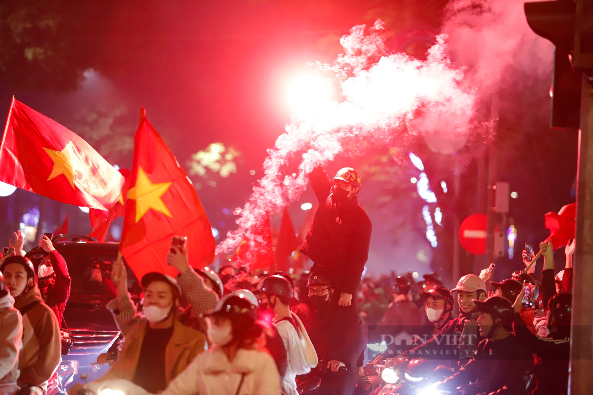
{"label": "dark jacket of the rider in glasses, directly below the flare holder", "polygon": [[349,372],[355,371],[358,358],[364,350],[364,327],[356,307],[338,306],[337,301],[317,311],[313,328],[308,332],[317,357],[327,362],[344,362]]}

